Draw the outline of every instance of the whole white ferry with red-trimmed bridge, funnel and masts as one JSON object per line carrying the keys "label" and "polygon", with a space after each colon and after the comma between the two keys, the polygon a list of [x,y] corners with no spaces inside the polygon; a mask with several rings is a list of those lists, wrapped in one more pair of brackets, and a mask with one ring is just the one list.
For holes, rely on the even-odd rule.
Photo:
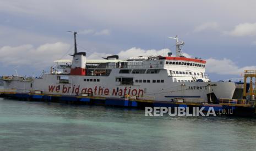
{"label": "whole white ferry with red-trimmed bridge, funnel and masts", "polygon": [[[183,41],[176,40],[176,56],[138,56],[121,60],[117,55],[102,60],[87,60],[77,51],[71,60],[58,60],[50,72],[39,78],[4,76],[4,88],[20,92],[40,91],[43,94],[133,97],[141,100],[168,102],[218,102],[232,98],[233,82],[211,82],[205,74],[206,61],[183,56]],[[146,55],[146,54],[145,54]]]}

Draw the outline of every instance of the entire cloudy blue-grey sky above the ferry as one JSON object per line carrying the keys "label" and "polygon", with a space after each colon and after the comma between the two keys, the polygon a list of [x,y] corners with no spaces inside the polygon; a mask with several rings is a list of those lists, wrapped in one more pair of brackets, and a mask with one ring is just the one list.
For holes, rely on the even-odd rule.
{"label": "entire cloudy blue-grey sky above the ferry", "polygon": [[175,40],[206,60],[213,81],[256,69],[256,1],[3,1],[0,0],[0,75],[39,76],[53,61],[78,51],[107,55],[167,55]]}

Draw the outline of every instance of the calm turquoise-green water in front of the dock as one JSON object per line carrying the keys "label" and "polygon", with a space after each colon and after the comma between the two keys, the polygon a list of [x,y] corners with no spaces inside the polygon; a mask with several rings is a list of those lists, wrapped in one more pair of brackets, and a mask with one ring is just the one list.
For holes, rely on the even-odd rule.
{"label": "calm turquoise-green water in front of the dock", "polygon": [[256,150],[256,120],[0,98],[0,150]]}

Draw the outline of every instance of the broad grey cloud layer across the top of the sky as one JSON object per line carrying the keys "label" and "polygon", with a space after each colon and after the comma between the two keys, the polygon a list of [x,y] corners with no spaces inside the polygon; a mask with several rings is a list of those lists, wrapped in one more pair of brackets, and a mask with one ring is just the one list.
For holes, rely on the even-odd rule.
{"label": "broad grey cloud layer across the top of the sky", "polygon": [[[200,3],[200,5],[198,5]],[[178,5],[182,5],[186,11],[179,11]],[[228,5],[227,8],[222,7]],[[244,3],[242,1],[233,3],[233,1],[201,1],[184,3],[183,1],[50,1],[50,0],[31,0],[19,1],[1,1],[0,11],[4,15],[28,16],[43,20],[43,23],[50,20],[57,27],[70,25],[75,27],[99,27],[101,25],[110,25],[114,28],[126,31],[155,32],[170,30],[171,32],[184,31],[195,21],[204,21],[216,19],[218,22],[232,18],[232,20],[253,20],[255,14],[255,1]],[[127,9],[129,8],[129,9]],[[243,11],[237,11],[237,9]],[[70,11],[72,10],[72,11]],[[131,11],[132,10],[132,11]],[[214,11],[218,10],[218,11]],[[117,13],[118,12],[118,13]],[[188,15],[189,12],[190,13]],[[149,15],[150,14],[150,15]],[[178,15],[177,15],[178,14]],[[225,14],[225,15],[224,15]],[[234,16],[236,16],[234,18]],[[193,18],[193,20],[191,20]],[[56,20],[57,19],[57,20]],[[19,20],[18,20],[19,21]],[[28,21],[30,22],[30,21]],[[74,22],[79,24],[74,25]],[[154,22],[154,24],[152,24]],[[164,24],[163,24],[164,22]],[[63,25],[63,23],[65,23]],[[210,22],[212,23],[212,22]],[[213,22],[214,23],[214,22]],[[230,22],[225,22],[231,24]],[[15,23],[13,23],[15,24]],[[181,26],[182,25],[182,26]],[[209,25],[207,25],[209,26]],[[210,27],[215,27],[210,25]],[[199,27],[201,30],[204,26]],[[157,29],[157,30],[155,30]],[[136,32],[135,31],[135,32]]]}

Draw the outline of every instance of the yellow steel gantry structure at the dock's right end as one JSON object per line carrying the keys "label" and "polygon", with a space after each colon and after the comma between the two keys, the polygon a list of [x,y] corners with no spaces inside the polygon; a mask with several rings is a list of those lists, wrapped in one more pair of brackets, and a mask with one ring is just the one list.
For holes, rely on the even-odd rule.
{"label": "yellow steel gantry structure at the dock's right end", "polygon": [[[245,70],[244,73],[244,83],[243,83],[243,97],[246,97],[247,95],[252,96],[255,95],[255,91],[253,91],[253,78],[256,78],[256,70]],[[247,78],[250,78],[250,88],[249,92],[246,92],[246,83]]]}

